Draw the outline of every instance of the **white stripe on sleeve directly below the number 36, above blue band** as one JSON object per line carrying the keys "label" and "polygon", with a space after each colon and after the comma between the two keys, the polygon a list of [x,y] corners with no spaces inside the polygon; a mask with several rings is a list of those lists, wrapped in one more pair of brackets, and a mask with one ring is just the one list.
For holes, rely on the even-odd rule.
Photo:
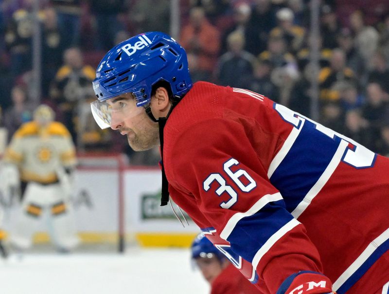
{"label": "white stripe on sleeve directly below the number 36, above blue band", "polygon": [[230,220],[227,221],[227,224],[224,226],[222,232],[220,233],[220,238],[225,239],[227,241],[227,238],[230,236],[232,230],[235,228],[238,221],[245,217],[252,216],[253,214],[257,213],[262,207],[264,207],[269,202],[279,201],[282,200],[283,197],[281,196],[281,193],[275,193],[275,194],[266,194],[264,197],[262,197],[260,200],[255,202],[253,206],[251,206],[248,211],[246,212],[237,212],[235,213]]}

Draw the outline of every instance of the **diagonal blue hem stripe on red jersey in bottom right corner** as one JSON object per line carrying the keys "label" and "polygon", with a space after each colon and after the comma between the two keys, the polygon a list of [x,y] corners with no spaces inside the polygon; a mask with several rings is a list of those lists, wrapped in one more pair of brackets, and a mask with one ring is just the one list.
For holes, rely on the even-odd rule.
{"label": "diagonal blue hem stripe on red jersey in bottom right corner", "polygon": [[363,276],[386,251],[389,250],[389,239],[378,246],[371,256],[350,276],[342,286],[336,290],[337,294],[343,294],[349,291],[349,289]]}

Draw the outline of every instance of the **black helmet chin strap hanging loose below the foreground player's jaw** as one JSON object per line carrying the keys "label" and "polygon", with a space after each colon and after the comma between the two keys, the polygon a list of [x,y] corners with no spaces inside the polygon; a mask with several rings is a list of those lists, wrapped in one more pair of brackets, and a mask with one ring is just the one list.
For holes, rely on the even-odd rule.
{"label": "black helmet chin strap hanging loose below the foreground player's jaw", "polygon": [[172,110],[176,107],[179,99],[179,97],[174,97],[175,99],[172,100],[172,106],[170,107],[169,112],[166,114],[165,117],[159,117],[158,119],[155,118],[153,113],[151,112],[150,104],[145,108],[145,111],[147,115],[150,117],[150,119],[153,122],[158,123],[159,126],[159,142],[160,142],[160,148],[161,148],[161,168],[162,168],[162,189],[161,189],[161,204],[160,206],[165,206],[169,202],[169,182],[166,178],[165,174],[165,167],[163,166],[163,129],[165,128],[166,122],[168,117],[170,116],[170,113],[172,113]]}

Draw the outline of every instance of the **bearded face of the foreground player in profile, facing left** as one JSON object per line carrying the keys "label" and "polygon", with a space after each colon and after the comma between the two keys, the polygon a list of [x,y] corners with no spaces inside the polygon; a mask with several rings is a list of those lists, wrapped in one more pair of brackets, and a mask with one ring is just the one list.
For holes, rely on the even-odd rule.
{"label": "bearded face of the foreground player in profile, facing left", "polygon": [[137,107],[131,93],[125,93],[107,103],[111,107],[111,129],[127,137],[134,151],[143,151],[159,145],[158,123],[153,122],[143,107]]}

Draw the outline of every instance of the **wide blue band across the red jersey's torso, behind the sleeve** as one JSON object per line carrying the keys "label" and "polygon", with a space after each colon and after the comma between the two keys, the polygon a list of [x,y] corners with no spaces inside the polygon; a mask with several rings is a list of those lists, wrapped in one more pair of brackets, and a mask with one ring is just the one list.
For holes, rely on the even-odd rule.
{"label": "wide blue band across the red jersey's torso, behind the sleeve", "polygon": [[283,196],[286,209],[292,212],[318,181],[340,143],[306,120],[299,136],[276,168],[270,182]]}

